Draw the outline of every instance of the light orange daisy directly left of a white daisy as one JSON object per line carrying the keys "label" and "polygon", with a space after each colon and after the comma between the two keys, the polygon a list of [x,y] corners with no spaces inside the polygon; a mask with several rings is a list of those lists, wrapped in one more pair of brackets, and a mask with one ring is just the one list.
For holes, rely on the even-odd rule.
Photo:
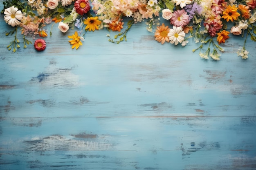
{"label": "light orange daisy directly left of a white daisy", "polygon": [[169,31],[170,28],[165,26],[164,23],[161,26],[157,26],[157,29],[155,30],[155,40],[161,42],[161,44],[164,44],[164,42],[170,42],[168,36]]}

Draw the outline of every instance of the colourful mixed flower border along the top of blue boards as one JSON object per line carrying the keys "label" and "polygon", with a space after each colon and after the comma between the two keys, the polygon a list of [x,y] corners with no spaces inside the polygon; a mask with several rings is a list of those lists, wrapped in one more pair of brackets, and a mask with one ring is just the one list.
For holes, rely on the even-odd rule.
{"label": "colourful mixed flower border along the top of blue boards", "polygon": [[[220,44],[231,34],[245,37],[243,47],[237,52],[243,59],[249,54],[245,47],[248,37],[256,41],[256,0],[5,0],[3,4],[4,21],[14,28],[6,33],[14,34],[14,40],[7,46],[13,52],[20,47],[18,27],[24,48],[32,44],[27,35],[33,39],[40,36],[34,46],[43,51],[46,43],[41,38],[52,35],[52,29],[49,33],[45,29],[51,23],[58,24],[63,33],[77,29],[73,35],[67,35],[72,49],[83,44],[84,31],[104,28],[118,32],[114,38],[107,34],[108,41],[117,44],[127,41],[132,25],[142,21],[146,21],[147,31],[155,31],[152,36],[161,44],[186,46],[189,39],[200,43],[193,52],[199,51],[204,59],[220,60],[220,52],[224,51]],[[161,24],[161,16],[170,24]],[[124,17],[130,18],[127,26]],[[204,46],[208,46],[206,50]]]}

